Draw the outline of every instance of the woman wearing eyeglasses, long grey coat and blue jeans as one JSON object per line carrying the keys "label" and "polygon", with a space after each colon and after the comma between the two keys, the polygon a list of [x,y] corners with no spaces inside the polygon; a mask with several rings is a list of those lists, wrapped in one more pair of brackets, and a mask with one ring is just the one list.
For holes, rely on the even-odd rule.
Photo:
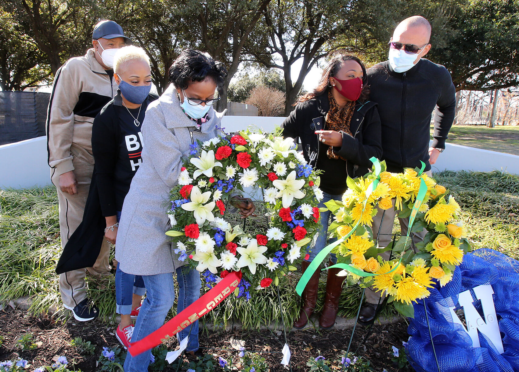
{"label": "woman wearing eyeglasses, long grey coat and blue jeans", "polygon": [[[164,324],[173,305],[173,274],[179,284],[177,312],[200,296],[200,274],[174,253],[165,232],[170,190],[177,184],[182,164],[197,141],[217,135],[223,113],[211,107],[215,91],[227,71],[209,55],[185,50],[169,70],[170,86],[148,106],[142,130],[142,164],[132,180],[122,207],[116,259],[122,271],[141,275],[147,296],[135,322],[132,342],[142,340]],[[244,214],[247,214],[245,211]],[[175,221],[173,221],[175,223]],[[186,352],[198,350],[198,321],[183,329],[189,336]],[[126,372],[147,370],[151,351],[126,356]]]}

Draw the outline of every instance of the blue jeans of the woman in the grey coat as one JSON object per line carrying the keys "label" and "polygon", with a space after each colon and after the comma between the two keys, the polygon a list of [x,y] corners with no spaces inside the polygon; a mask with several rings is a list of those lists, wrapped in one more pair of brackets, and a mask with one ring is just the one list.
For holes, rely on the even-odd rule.
{"label": "blue jeans of the woman in the grey coat", "polygon": [[[159,329],[173,306],[175,288],[172,273],[143,275],[147,295],[144,299],[135,322],[131,342],[142,340],[147,335]],[[179,283],[179,301],[177,313],[187,308],[200,297],[200,273],[187,266],[176,269],[176,279]],[[192,326],[187,326],[180,332],[180,339],[189,335],[186,351],[198,350],[198,321]],[[125,372],[145,372],[148,370],[151,350],[137,356],[126,355],[124,365]]]}

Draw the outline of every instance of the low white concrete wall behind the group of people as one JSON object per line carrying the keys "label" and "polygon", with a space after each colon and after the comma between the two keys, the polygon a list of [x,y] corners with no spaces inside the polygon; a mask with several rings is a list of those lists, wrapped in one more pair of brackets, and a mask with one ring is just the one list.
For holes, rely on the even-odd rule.
{"label": "low white concrete wall behind the group of people", "polygon": [[[222,126],[226,132],[251,127],[265,131],[274,130],[284,117],[224,116]],[[47,139],[38,137],[0,146],[0,188],[31,188],[50,184],[50,169],[47,165]],[[519,174],[519,156],[471,147],[446,144],[433,171],[441,170],[503,170]]]}

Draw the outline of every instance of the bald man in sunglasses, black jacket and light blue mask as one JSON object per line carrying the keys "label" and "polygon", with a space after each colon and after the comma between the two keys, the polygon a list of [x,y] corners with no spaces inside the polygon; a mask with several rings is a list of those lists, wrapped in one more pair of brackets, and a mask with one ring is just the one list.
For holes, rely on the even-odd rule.
{"label": "bald man in sunglasses, black jacket and light blue mask", "polygon": [[[387,170],[402,172],[404,168],[420,167],[431,175],[431,165],[445,149],[445,140],[454,121],[456,89],[450,73],[440,64],[424,57],[431,49],[431,25],[424,17],[404,19],[389,40],[389,59],[367,70],[370,100],[378,103],[382,128],[381,160]],[[429,146],[431,114],[434,111],[433,141]],[[396,212],[379,209],[373,218],[374,238],[378,246],[391,242]],[[402,232],[408,219],[400,219]],[[423,241],[425,231],[413,233],[413,242]],[[389,252],[380,254],[389,259]],[[370,323],[380,310],[384,296],[366,289],[366,303],[359,321]]]}

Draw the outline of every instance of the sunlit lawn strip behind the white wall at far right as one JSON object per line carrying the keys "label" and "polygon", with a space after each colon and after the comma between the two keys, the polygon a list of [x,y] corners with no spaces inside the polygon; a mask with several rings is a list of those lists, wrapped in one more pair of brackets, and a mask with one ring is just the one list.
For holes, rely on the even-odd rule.
{"label": "sunlit lawn strip behind the white wall at far right", "polygon": [[[431,126],[431,136],[432,131]],[[519,155],[519,126],[454,125],[450,128],[447,143]]]}

